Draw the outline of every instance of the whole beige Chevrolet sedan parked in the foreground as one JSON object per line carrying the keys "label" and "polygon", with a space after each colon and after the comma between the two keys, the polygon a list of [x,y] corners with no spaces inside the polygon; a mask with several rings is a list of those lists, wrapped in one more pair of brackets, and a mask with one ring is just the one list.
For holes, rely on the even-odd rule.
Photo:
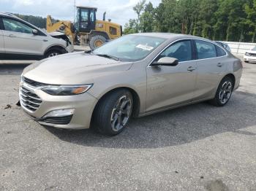
{"label": "whole beige Chevrolet sedan parked in the foreground", "polygon": [[131,117],[200,101],[225,106],[241,74],[241,61],[208,39],[132,34],[28,66],[20,104],[41,125],[116,135]]}

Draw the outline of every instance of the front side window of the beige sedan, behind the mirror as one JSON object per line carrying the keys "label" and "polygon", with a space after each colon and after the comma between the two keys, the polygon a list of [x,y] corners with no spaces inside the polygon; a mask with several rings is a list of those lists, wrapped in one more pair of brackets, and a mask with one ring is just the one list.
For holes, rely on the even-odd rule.
{"label": "front side window of the beige sedan, behind the mirror", "polygon": [[179,62],[192,60],[192,45],[190,40],[176,42],[168,47],[164,52],[159,55],[159,58],[171,57],[178,59]]}

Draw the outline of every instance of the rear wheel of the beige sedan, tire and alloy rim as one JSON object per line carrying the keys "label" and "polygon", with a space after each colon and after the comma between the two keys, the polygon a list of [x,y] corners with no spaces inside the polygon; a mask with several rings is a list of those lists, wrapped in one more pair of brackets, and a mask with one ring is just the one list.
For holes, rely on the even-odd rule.
{"label": "rear wheel of the beige sedan, tire and alloy rim", "polygon": [[234,82],[230,77],[225,77],[219,83],[215,98],[210,101],[214,106],[225,106],[233,93]]}

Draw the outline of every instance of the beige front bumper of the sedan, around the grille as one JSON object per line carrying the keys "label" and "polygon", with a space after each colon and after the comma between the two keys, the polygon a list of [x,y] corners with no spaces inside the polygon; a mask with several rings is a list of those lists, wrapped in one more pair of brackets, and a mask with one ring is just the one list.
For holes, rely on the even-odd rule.
{"label": "beige front bumper of the sedan, around the grille", "polygon": [[[32,111],[31,108],[25,106],[26,103],[22,98],[23,93],[21,92],[22,87],[25,87],[26,90],[34,93],[42,100],[42,103],[39,104],[38,108],[35,109],[35,111]],[[89,93],[69,96],[49,95],[48,93],[45,93],[37,87],[31,87],[23,82],[20,82],[19,97],[20,105],[23,111],[26,112],[26,114],[29,114],[29,116],[33,120],[39,122],[39,124],[41,125],[48,125],[54,128],[89,128],[91,123],[91,115],[94,110],[94,106],[97,104],[97,99]],[[58,116],[58,114],[51,115],[51,113],[58,113],[57,110],[72,111],[72,113],[67,113],[63,116]]]}

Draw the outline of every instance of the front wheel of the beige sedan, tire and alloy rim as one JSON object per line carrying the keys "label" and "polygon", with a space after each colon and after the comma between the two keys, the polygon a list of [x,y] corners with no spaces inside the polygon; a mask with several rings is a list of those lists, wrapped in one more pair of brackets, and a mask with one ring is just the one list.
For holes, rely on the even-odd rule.
{"label": "front wheel of the beige sedan, tire and alloy rim", "polygon": [[132,114],[133,98],[128,90],[116,90],[99,101],[93,114],[93,128],[115,136],[126,127]]}

